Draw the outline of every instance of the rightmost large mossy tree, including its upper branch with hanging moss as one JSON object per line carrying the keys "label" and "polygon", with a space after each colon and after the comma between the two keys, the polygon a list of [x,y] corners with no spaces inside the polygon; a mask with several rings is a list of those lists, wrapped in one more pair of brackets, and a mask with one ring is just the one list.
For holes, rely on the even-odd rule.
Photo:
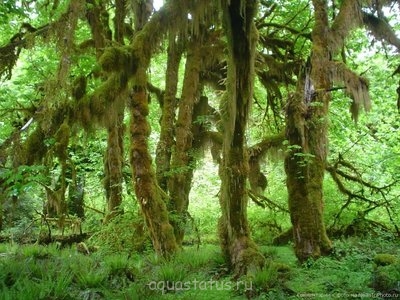
{"label": "rightmost large mossy tree, including its upper branch with hanging moss", "polygon": [[[347,95],[352,99],[351,112],[356,122],[361,107],[370,108],[368,81],[336,57],[353,29],[363,24],[371,26],[368,21],[371,16],[362,12],[360,3],[342,1],[339,13],[330,25],[327,1],[313,1],[313,6],[315,23],[311,58],[300,74],[297,93],[289,98],[286,111],[289,154],[285,159],[285,171],[295,251],[301,261],[319,257],[332,249],[323,220],[322,191],[333,84],[344,84]],[[375,24],[380,22],[375,21]],[[378,37],[385,36],[396,45],[397,40],[391,29],[383,24]],[[377,32],[377,28],[372,31]],[[345,59],[343,53],[342,59]]]}

